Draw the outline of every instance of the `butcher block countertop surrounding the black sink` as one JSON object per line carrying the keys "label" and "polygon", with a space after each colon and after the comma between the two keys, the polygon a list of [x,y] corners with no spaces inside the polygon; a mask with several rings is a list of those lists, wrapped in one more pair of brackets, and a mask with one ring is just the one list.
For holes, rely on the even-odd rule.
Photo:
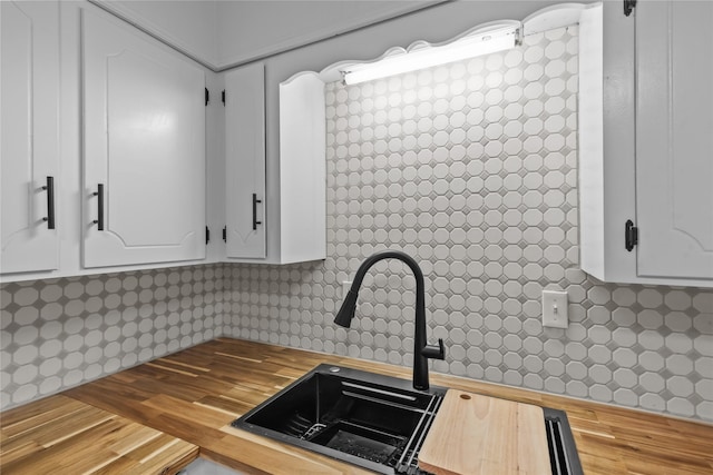
{"label": "butcher block countertop surrounding the black sink", "polygon": [[[0,473],[10,473],[8,468],[14,459],[8,457],[7,446],[16,444],[14,448],[18,451],[17,444],[20,444],[19,441],[10,438],[11,429],[17,429],[18,424],[22,424],[20,433],[41,433],[47,419],[51,419],[42,415],[45,413],[40,408],[45,404],[48,405],[47,410],[59,410],[57,407],[65,406],[74,407],[76,410],[95,410],[99,414],[99,419],[109,417],[108,420],[114,420],[111,417],[115,417],[117,423],[134,422],[134,431],[137,433],[150,428],[159,434],[157,437],[178,441],[169,448],[154,451],[172,455],[177,464],[175,466],[180,466],[180,461],[185,464],[186,457],[191,457],[188,447],[195,445],[199,447],[201,456],[247,473],[367,473],[329,457],[229,426],[233,419],[321,363],[408,379],[411,377],[411,369],[406,367],[218,338],[3,413],[0,415]],[[713,425],[434,373],[431,373],[431,384],[565,410],[587,475],[713,474]],[[88,406],[90,407],[87,408]],[[77,418],[67,417],[65,424],[58,424],[57,435],[47,437],[66,437],[67,444],[74,444],[77,454],[79,451],[101,449],[100,445],[97,446],[96,439],[72,434],[76,432],[74,427]],[[72,438],[75,441],[71,441]],[[115,444],[118,444],[124,437],[116,436],[115,439]],[[37,455],[30,458],[41,464],[41,467],[61,468],[62,455],[49,449],[38,449],[42,441],[46,439],[28,436],[22,451],[36,453]],[[178,444],[186,444],[187,452],[169,454],[169,449]],[[124,447],[124,452],[128,448]],[[115,448],[115,453],[121,454],[123,451]],[[195,454],[193,456],[195,457]],[[149,457],[148,454],[131,457],[127,453],[124,457],[141,463],[150,459],[145,458]],[[118,464],[119,458],[115,463]],[[141,465],[140,468],[135,466],[131,469],[121,469],[120,465],[116,465],[117,471],[114,472],[110,471],[111,465],[97,465],[98,468],[94,473],[101,473],[101,469],[106,473],[162,473],[165,466],[158,468],[159,465]],[[92,467],[53,472],[92,473]]]}

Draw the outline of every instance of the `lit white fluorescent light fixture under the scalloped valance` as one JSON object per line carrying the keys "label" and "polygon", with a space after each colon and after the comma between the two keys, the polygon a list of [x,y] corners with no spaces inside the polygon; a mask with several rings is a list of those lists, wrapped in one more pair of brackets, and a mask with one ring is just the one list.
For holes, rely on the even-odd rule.
{"label": "lit white fluorescent light fixture under the scalloped valance", "polygon": [[354,65],[348,71],[343,71],[344,82],[346,85],[358,85],[373,79],[510,49],[517,44],[518,31],[519,27],[509,26],[480,34],[467,36],[449,44],[414,49],[399,55],[387,56],[374,62]]}

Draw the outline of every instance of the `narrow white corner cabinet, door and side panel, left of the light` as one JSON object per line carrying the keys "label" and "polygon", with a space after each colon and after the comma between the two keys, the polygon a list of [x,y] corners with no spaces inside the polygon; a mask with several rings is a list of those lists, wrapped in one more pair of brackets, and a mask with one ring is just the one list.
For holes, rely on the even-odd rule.
{"label": "narrow white corner cabinet, door and side panel, left of the light", "polygon": [[264,75],[262,63],[225,75],[226,258],[266,264],[324,259],[324,82],[303,72],[280,85],[280,154],[267,190]]}

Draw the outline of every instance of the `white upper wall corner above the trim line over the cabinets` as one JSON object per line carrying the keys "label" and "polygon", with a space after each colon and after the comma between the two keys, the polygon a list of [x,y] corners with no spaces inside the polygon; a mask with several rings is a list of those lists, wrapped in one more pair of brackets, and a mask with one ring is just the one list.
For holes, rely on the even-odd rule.
{"label": "white upper wall corner above the trim line over the cabinets", "polygon": [[443,0],[89,0],[223,70]]}

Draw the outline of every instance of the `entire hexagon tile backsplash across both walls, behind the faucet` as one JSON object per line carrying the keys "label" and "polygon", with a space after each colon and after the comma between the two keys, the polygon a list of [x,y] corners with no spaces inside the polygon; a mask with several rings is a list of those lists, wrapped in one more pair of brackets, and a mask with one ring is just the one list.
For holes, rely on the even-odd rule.
{"label": "entire hexagon tile backsplash across both walls, behind the faucet", "polygon": [[[437,372],[713,420],[713,291],[578,269],[577,28],[359,86],[328,85],[328,259],[2,286],[2,407],[225,335],[411,365],[420,263]],[[540,294],[569,296],[543,328]]]}

